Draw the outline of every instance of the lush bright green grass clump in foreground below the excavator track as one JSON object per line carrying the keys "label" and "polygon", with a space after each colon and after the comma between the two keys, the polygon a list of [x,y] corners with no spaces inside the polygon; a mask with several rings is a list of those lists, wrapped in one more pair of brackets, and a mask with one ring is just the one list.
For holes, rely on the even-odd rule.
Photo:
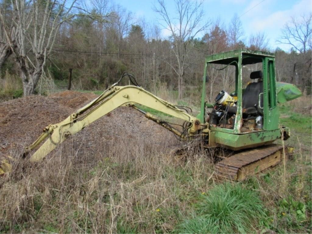
{"label": "lush bright green grass clump in foreground below the excavator track", "polygon": [[195,214],[179,225],[181,233],[250,233],[266,217],[259,195],[239,183],[223,183],[202,196]]}

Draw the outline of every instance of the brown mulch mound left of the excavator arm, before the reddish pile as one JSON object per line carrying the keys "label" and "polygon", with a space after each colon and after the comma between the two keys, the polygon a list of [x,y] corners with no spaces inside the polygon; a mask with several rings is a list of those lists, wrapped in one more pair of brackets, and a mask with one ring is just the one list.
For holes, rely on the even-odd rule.
{"label": "brown mulch mound left of the excavator arm, before the reddish pile", "polygon": [[0,103],[0,155],[14,154],[31,144],[50,123],[71,114],[71,109],[44,96],[31,95]]}

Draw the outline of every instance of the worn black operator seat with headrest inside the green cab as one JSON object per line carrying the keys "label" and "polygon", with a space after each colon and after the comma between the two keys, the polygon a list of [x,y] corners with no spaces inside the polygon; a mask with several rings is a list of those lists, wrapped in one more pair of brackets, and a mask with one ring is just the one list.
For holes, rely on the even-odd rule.
{"label": "worn black operator seat with headrest inside the green cab", "polygon": [[[263,114],[263,109],[259,106],[259,94],[263,93],[262,71],[251,72],[250,79],[259,80],[258,82],[249,83],[243,93],[243,113],[250,115],[257,115],[258,113]],[[263,95],[261,95],[260,98],[260,105],[263,107]]]}

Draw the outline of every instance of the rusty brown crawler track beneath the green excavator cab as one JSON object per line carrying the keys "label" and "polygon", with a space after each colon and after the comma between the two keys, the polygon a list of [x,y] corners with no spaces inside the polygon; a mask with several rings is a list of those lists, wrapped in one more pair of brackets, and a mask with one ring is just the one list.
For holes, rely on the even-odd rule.
{"label": "rusty brown crawler track beneath the green excavator cab", "polygon": [[225,158],[215,165],[220,178],[241,181],[248,176],[280,163],[283,147],[271,144]]}

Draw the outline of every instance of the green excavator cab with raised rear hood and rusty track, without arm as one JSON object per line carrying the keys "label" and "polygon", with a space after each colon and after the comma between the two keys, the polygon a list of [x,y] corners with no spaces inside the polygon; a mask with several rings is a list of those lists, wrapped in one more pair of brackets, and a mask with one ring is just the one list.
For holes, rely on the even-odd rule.
{"label": "green excavator cab with raised rear hood and rusty track, without arm", "polygon": [[[223,82],[223,89],[234,91],[221,90],[212,103],[207,103],[207,75],[210,97],[216,80]],[[208,123],[209,140],[205,147],[238,151],[215,165],[217,176],[240,181],[280,163],[282,154],[291,149],[272,144],[290,136],[289,128],[279,124],[277,102],[300,95],[293,85],[276,85],[271,53],[241,49],[207,56],[201,113],[197,116],[202,123]]]}

